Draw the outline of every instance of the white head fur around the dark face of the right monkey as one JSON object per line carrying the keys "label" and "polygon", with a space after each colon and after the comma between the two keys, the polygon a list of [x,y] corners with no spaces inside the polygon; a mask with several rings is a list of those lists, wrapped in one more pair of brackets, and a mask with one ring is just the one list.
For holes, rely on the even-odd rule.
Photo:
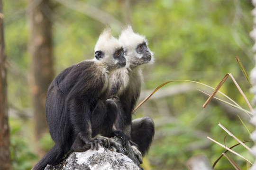
{"label": "white head fur around the dark face of the right monkey", "polygon": [[[128,26],[124,27],[124,29],[122,30],[122,33],[119,36],[119,41],[122,43],[122,45],[126,51],[125,57],[127,59],[127,66],[128,67],[129,66],[137,67],[139,65],[139,64],[137,64],[137,63],[139,63],[138,59],[142,58],[142,54],[138,54],[136,52],[136,48],[141,43],[146,43],[146,45],[148,45],[146,37],[144,35],[134,33],[132,30],[132,27],[130,25],[128,25]],[[152,58],[149,63],[153,63],[154,62],[153,52],[150,51],[150,53],[151,53]]]}

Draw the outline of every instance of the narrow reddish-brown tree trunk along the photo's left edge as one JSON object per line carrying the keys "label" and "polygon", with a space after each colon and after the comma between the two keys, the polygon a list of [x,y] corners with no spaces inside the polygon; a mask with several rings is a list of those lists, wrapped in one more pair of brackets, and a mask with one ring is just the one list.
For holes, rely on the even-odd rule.
{"label": "narrow reddish-brown tree trunk along the photo's left edge", "polygon": [[2,0],[0,0],[0,170],[11,170],[6,81],[6,54]]}

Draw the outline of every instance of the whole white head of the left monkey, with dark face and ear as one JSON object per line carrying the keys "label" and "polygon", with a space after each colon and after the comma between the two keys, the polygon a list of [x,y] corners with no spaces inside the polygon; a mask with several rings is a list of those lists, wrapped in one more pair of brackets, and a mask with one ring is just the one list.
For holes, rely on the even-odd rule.
{"label": "whole white head of the left monkey, with dark face and ear", "polygon": [[95,61],[105,66],[108,70],[121,68],[126,65],[123,46],[111,34],[110,26],[101,33],[95,47]]}

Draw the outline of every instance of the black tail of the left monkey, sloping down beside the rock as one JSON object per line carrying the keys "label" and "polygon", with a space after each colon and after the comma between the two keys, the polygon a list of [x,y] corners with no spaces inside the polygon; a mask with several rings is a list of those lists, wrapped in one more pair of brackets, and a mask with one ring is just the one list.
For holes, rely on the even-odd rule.
{"label": "black tail of the left monkey, sloping down beside the rock", "polygon": [[47,164],[57,164],[62,161],[64,154],[63,149],[55,144],[32,170],[44,170]]}

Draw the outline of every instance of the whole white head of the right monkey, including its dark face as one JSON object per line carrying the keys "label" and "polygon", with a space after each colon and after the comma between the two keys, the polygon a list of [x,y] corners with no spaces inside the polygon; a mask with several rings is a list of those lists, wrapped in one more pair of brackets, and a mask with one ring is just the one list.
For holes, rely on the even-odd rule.
{"label": "whole white head of the right monkey, including its dark face", "polygon": [[146,37],[134,33],[130,25],[122,30],[119,41],[125,49],[127,67],[133,69],[140,65],[154,62],[153,52],[147,47]]}

